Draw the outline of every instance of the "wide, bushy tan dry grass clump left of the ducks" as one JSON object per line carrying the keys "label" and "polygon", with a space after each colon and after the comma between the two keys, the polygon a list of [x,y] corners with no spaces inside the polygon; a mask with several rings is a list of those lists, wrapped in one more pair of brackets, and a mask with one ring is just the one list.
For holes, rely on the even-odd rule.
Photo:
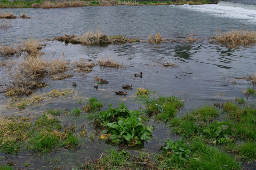
{"label": "wide, bushy tan dry grass clump left of the ducks", "polygon": [[51,61],[42,59],[40,57],[30,57],[24,59],[18,65],[20,73],[28,78],[35,78],[38,76],[45,76],[46,74],[57,74],[68,69],[68,62],[64,58]]}

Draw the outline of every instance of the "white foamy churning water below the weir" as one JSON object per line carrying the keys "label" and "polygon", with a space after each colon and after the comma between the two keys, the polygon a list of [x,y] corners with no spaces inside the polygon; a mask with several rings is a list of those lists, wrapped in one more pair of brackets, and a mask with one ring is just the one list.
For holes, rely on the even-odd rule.
{"label": "white foamy churning water below the weir", "polygon": [[[246,5],[246,4],[245,4]],[[222,6],[216,4],[207,5],[175,5],[170,6],[172,8],[184,8],[185,10],[192,10],[207,15],[213,15],[216,17],[231,18],[243,20],[244,22],[256,24],[256,10],[245,9],[242,7]]]}

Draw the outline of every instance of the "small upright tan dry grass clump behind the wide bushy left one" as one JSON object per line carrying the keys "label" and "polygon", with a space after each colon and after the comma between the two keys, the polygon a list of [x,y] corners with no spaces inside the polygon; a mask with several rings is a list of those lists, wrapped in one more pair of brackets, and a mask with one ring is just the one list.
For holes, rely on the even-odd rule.
{"label": "small upright tan dry grass clump behind the wide bushy left one", "polygon": [[23,43],[23,51],[27,51],[32,55],[40,55],[43,54],[40,49],[42,49],[42,44],[39,40],[35,40],[33,38],[28,37],[28,40],[25,40]]}

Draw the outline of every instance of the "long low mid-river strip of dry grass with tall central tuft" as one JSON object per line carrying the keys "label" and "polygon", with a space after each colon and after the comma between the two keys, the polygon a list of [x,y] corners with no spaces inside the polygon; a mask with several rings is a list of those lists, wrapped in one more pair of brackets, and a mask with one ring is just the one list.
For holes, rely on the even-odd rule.
{"label": "long low mid-river strip of dry grass with tall central tuft", "polygon": [[83,36],[65,35],[54,38],[54,40],[62,41],[65,43],[82,43],[82,44],[114,44],[126,42],[138,42],[139,39],[126,38],[122,35],[108,36],[104,35],[100,30],[87,31]]}

